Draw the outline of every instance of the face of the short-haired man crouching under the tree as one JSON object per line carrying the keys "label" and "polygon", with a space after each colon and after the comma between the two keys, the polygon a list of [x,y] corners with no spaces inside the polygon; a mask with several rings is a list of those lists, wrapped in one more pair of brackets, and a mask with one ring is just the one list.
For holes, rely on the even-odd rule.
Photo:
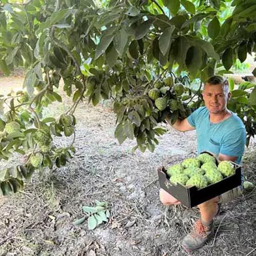
{"label": "face of the short-haired man crouching under the tree", "polygon": [[203,90],[203,99],[206,108],[212,114],[221,113],[225,110],[230,93],[224,90],[221,84],[205,84]]}

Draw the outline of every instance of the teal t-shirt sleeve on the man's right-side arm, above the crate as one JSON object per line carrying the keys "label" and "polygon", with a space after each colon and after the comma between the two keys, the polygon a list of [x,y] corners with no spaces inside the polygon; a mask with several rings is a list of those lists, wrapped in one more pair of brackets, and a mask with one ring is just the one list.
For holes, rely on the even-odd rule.
{"label": "teal t-shirt sleeve on the man's right-side arm, above the crate", "polygon": [[220,154],[227,156],[242,156],[246,143],[244,128],[237,129],[223,137]]}

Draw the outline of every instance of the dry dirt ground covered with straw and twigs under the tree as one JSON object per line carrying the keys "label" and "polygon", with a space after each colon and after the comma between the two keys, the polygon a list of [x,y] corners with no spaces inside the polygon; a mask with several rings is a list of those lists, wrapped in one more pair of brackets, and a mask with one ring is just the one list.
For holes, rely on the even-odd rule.
{"label": "dry dirt ground covered with straw and twigs under the tree", "polygon": [[[1,90],[22,78],[0,78]],[[15,87],[15,88],[17,88]],[[65,167],[35,176],[21,193],[0,199],[0,255],[164,256],[187,255],[182,238],[199,217],[197,208],[163,206],[159,201],[157,168],[196,156],[196,133],[168,129],[154,153],[131,149],[114,138],[115,115],[109,104],[81,103],[77,109],[76,153]],[[54,104],[46,115],[59,115],[71,104]],[[65,145],[72,138],[56,139]],[[247,180],[256,183],[256,141],[243,158]],[[8,164],[15,163],[15,159]],[[4,163],[2,163],[4,164]],[[111,221],[88,230],[82,206],[95,200],[109,203]],[[215,237],[193,255],[255,256],[256,194],[244,194],[222,205]]]}

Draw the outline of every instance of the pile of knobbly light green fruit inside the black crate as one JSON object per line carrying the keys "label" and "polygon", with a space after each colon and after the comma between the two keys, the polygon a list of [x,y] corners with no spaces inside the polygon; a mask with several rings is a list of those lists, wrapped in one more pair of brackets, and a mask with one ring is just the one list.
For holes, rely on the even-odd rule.
{"label": "pile of knobbly light green fruit inside the black crate", "polygon": [[203,153],[197,158],[187,158],[181,163],[168,167],[166,174],[169,181],[186,187],[196,186],[198,189],[221,181],[233,175],[234,165],[230,161],[217,163],[216,159]]}

